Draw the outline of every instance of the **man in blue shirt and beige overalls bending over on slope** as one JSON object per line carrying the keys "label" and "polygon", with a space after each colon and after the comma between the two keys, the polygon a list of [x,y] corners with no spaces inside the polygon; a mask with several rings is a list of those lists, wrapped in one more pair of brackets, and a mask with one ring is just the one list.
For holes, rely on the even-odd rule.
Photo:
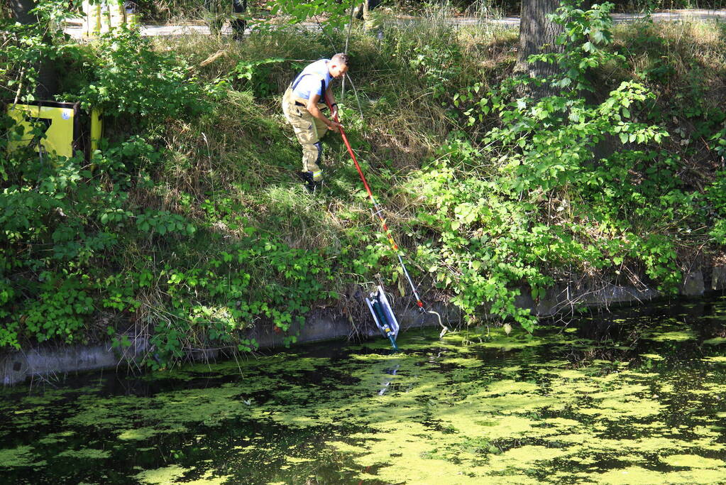
{"label": "man in blue shirt and beige overalls bending over on slope", "polygon": [[340,123],[327,118],[321,109],[325,108],[325,97],[333,106],[330,118],[338,115],[330,81],[340,79],[348,72],[348,55],[335,54],[330,59],[321,59],[308,65],[300,76],[290,84],[282,97],[282,112],[293,125],[298,141],[303,145],[303,171],[299,176],[311,192],[322,183],[319,166],[322,155],[320,139],[327,130],[339,131]]}

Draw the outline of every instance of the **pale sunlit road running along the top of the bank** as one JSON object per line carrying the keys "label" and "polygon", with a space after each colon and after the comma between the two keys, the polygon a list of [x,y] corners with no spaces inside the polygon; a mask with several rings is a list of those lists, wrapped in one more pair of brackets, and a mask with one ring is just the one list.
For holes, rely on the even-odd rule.
{"label": "pale sunlit road running along the top of the bank", "polygon": [[[634,22],[635,20],[645,17],[643,14],[613,14],[615,23]],[[667,10],[664,12],[655,12],[650,15],[655,22],[680,22],[693,20],[714,20],[716,22],[726,22],[726,9],[720,10]],[[418,20],[415,17],[400,18],[401,23],[413,23]],[[452,25],[476,25],[482,20],[475,17],[449,17],[448,22]],[[519,17],[502,17],[488,20],[494,25],[502,25],[507,28],[515,28],[519,25]],[[315,23],[304,24],[309,28],[317,27]],[[64,29],[66,33],[75,38],[83,38],[83,30],[80,20],[68,20],[68,26]],[[247,33],[249,33],[249,29]],[[144,36],[184,36],[192,33],[208,34],[209,28],[206,25],[143,25],[142,33]],[[231,30],[229,25],[225,25],[222,33],[229,34]]]}

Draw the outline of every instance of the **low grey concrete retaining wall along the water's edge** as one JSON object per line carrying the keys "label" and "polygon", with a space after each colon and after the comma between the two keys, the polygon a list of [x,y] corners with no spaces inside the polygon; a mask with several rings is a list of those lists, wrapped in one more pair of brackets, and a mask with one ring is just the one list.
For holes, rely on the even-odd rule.
{"label": "low grey concrete retaining wall along the water's edge", "polygon": [[[700,270],[685,274],[680,294],[688,297],[703,296],[707,291],[726,290],[726,266],[717,266],[707,274]],[[529,308],[539,317],[552,317],[568,313],[574,306],[608,306],[616,303],[641,303],[658,298],[653,288],[635,288],[617,285],[560,285],[547,290],[543,298],[534,301],[528,291],[518,297],[518,306]],[[438,306],[444,325],[457,327],[460,316],[456,309]],[[486,314],[486,311],[484,311]],[[420,314],[416,309],[396,309],[401,331],[414,327],[436,327],[439,319],[433,314]],[[372,324],[356,325],[346,317],[325,311],[313,311],[306,317],[303,327],[291,328],[298,332],[298,343],[340,340],[343,338],[365,339],[378,337]],[[256,325],[248,336],[256,339],[261,349],[283,345],[284,335],[274,333],[270,325]],[[0,382],[4,385],[21,383],[33,376],[60,375],[68,372],[110,369],[142,356],[149,348],[144,338],[132,339],[131,347],[114,349],[111,343],[95,346],[43,346],[24,351],[0,354]],[[216,359],[219,351],[194,351],[192,360]]]}

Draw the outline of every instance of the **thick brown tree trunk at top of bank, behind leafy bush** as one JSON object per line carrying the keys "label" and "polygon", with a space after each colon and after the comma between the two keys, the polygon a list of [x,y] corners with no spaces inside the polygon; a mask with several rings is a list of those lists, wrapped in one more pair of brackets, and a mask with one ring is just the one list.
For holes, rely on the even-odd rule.
{"label": "thick brown tree trunk at top of bank, behind leafy bush", "polygon": [[556,65],[547,62],[530,64],[527,59],[532,54],[563,52],[562,46],[555,44],[562,27],[547,18],[547,14],[555,12],[559,6],[559,0],[522,0],[516,71],[537,78],[558,73]]}

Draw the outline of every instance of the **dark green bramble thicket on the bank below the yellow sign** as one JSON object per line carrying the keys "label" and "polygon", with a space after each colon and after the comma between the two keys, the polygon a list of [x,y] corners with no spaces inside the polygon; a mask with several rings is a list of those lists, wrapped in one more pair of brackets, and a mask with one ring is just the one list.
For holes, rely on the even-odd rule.
{"label": "dark green bramble thicket on the bank below the yellow sign", "polygon": [[[301,321],[306,302],[335,297],[327,291],[330,264],[317,253],[291,250],[251,227],[224,243],[180,214],[130,206],[126,192],[98,182],[118,173],[105,156],[94,158],[92,174],[81,155],[33,159],[7,160],[10,183],[0,194],[0,243],[9,248],[0,261],[7,275],[0,280],[3,346],[18,348],[28,338],[87,341],[106,309],[147,318],[157,355],[147,363],[163,367],[215,342],[252,349],[239,330],[266,319],[285,332]],[[211,240],[219,249],[191,265],[170,256],[160,268],[150,257],[125,261],[125,245],[143,240],[152,254],[161,247],[187,254]],[[150,297],[153,309],[145,306]],[[123,335],[119,342],[130,345]]]}

